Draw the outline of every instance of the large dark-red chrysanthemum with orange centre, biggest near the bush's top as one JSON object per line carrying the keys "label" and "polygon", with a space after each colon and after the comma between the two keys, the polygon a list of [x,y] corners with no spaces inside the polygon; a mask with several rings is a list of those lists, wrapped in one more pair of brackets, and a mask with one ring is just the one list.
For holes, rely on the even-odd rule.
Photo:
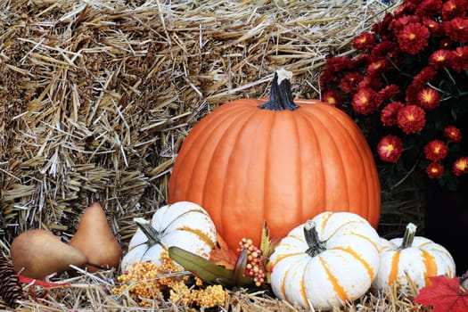
{"label": "large dark-red chrysanthemum with orange centre, biggest near the bush's top", "polygon": [[429,29],[421,23],[409,23],[398,33],[398,44],[401,51],[409,54],[417,54],[428,45],[431,36]]}

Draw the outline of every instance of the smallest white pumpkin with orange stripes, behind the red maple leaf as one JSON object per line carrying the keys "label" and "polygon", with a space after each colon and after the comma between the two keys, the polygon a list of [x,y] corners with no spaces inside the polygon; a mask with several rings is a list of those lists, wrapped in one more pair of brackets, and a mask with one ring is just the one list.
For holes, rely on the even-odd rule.
{"label": "smallest white pumpkin with orange stripes, behind the red maple leaf", "polygon": [[430,276],[455,276],[455,262],[448,250],[415,233],[416,226],[409,223],[403,237],[381,238],[381,264],[374,287],[384,289],[398,283],[398,292],[406,294],[410,291],[408,277],[421,289],[430,285]]}

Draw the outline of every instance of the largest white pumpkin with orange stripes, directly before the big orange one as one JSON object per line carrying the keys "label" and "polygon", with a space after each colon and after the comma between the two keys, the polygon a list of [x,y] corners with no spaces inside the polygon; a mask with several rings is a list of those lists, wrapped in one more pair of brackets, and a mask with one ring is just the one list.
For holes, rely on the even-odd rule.
{"label": "largest white pumpkin with orange stripes, directly before the big orange one", "polygon": [[303,308],[331,309],[356,300],[379,269],[380,237],[365,218],[323,212],[295,227],[270,257],[276,297]]}

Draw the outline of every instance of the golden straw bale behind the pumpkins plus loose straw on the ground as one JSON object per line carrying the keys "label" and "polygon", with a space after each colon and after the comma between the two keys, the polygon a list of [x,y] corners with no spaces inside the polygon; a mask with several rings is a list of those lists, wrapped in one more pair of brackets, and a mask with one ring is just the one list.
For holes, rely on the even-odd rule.
{"label": "golden straw bale behind the pumpkins plus loose straw on the ground", "polygon": [[[125,246],[132,219],[166,203],[177,151],[199,119],[221,103],[267,96],[280,67],[293,72],[295,96],[318,98],[326,57],[353,53],[352,38],[395,6],[0,0],[0,251],[8,255],[30,228],[67,240],[92,201]],[[119,309],[101,282],[85,275],[26,306]],[[255,304],[239,310],[266,304],[242,300]],[[365,300],[386,310],[378,307],[388,300]],[[267,310],[291,308],[273,302]]]}

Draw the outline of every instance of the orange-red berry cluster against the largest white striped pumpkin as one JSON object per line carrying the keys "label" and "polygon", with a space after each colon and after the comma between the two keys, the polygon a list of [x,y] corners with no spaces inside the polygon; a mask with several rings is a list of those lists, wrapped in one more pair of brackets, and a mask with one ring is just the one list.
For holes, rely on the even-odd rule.
{"label": "orange-red berry cluster against the largest white striped pumpkin", "polygon": [[265,259],[263,251],[253,245],[252,240],[242,238],[239,242],[237,252],[247,250],[247,265],[245,266],[244,275],[250,276],[255,286],[259,287],[265,283]]}

